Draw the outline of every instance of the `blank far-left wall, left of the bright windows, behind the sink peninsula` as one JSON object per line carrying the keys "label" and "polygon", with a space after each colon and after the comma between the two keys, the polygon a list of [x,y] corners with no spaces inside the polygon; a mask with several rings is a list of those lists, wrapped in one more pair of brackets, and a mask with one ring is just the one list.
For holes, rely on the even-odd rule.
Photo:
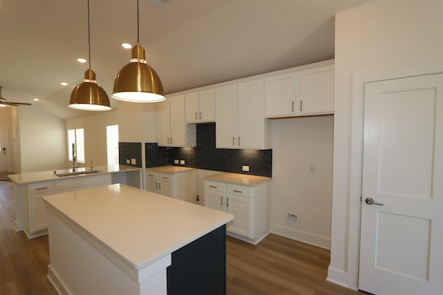
{"label": "blank far-left wall, left of the bright windows, behind the sink peninsula", "polygon": [[41,108],[19,106],[19,172],[51,171],[66,166],[66,122]]}

